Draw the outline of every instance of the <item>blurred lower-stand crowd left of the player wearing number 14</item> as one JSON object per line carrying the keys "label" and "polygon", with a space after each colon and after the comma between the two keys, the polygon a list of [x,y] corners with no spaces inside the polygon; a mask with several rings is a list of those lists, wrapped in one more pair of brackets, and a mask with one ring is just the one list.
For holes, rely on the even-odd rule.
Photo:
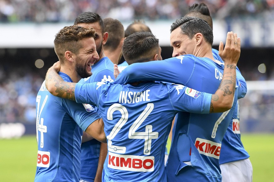
{"label": "blurred lower-stand crowd left of the player wearing number 14", "polygon": [[43,80],[26,68],[0,68],[0,123],[35,123],[36,95]]}

